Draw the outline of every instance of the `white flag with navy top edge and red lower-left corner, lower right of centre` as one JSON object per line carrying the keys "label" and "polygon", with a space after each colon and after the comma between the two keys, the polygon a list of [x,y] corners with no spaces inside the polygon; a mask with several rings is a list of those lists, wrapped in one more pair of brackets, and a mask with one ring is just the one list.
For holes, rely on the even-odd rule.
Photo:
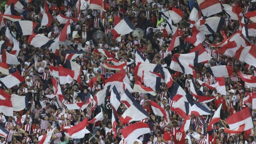
{"label": "white flag with navy top edge and red lower-left corner, lower right of centre", "polygon": [[209,114],[212,114],[212,112],[196,101],[195,104],[191,106],[191,114],[200,116],[200,115],[209,115]]}

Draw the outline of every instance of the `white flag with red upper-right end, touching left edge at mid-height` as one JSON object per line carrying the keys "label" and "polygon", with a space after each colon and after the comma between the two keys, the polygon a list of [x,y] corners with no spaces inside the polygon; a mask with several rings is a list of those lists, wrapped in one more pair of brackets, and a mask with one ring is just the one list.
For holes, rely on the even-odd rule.
{"label": "white flag with red upper-right end, touching left edge at mid-height", "polygon": [[7,88],[12,88],[13,86],[18,85],[23,81],[25,81],[25,79],[19,74],[19,71],[0,78],[0,83]]}

